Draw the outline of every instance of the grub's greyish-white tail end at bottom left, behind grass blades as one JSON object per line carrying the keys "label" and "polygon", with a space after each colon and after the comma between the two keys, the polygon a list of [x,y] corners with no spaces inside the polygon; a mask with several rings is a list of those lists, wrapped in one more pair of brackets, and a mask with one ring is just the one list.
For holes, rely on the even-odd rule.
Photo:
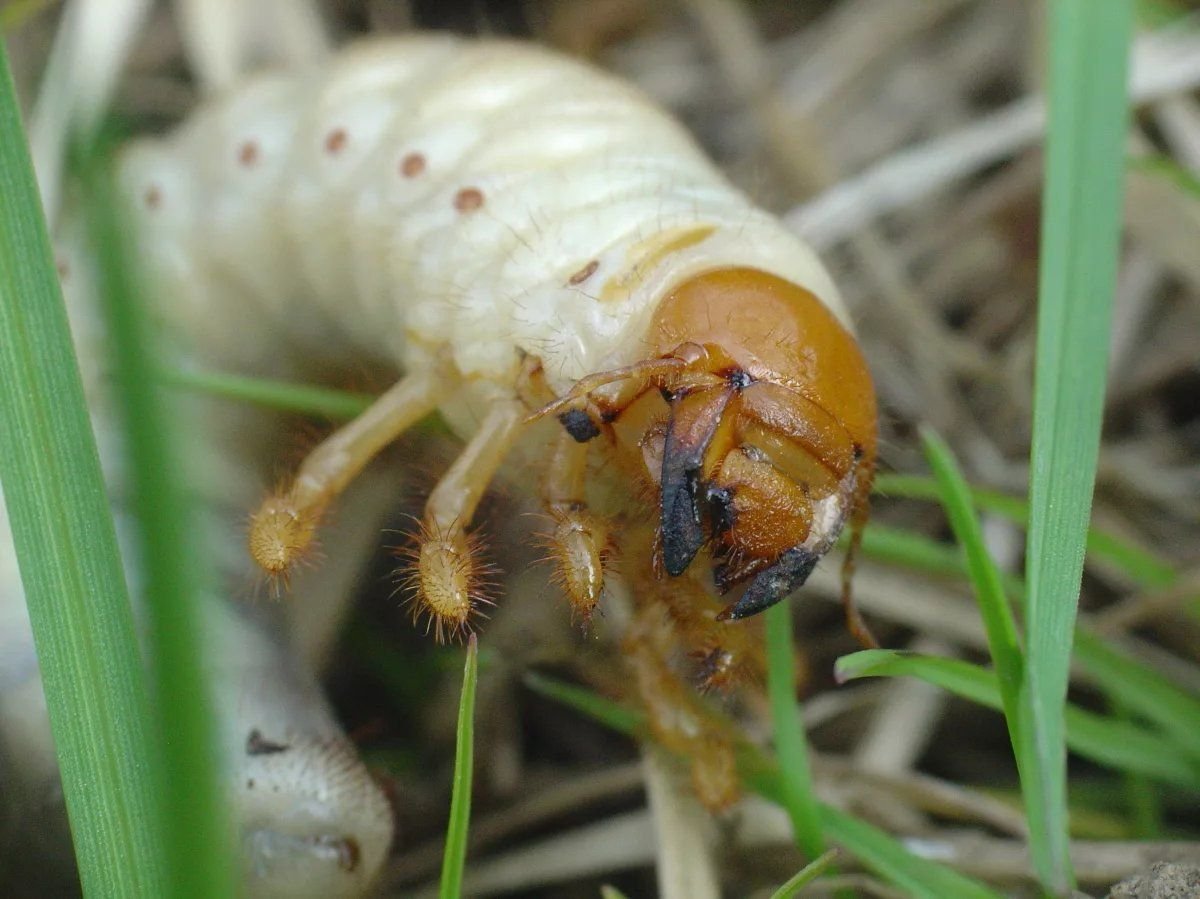
{"label": "grub's greyish-white tail end at bottom left, behind grass blades", "polygon": [[[132,522],[120,513],[118,525],[122,537],[131,534]],[[126,552],[133,549],[132,541],[122,543]],[[277,628],[226,597],[205,600],[208,642],[215,649],[209,683],[217,705],[226,795],[238,826],[242,894],[364,895],[392,838],[383,790],[338,729],[312,672],[281,646]],[[0,817],[0,846],[7,853],[19,845],[43,870],[38,882],[55,882],[71,864],[70,834],[2,497],[0,791],[4,813],[12,816]]]}

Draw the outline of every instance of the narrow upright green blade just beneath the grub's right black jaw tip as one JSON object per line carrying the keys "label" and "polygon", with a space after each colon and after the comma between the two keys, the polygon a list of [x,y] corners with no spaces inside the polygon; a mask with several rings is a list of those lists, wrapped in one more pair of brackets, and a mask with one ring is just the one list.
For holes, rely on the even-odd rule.
{"label": "narrow upright green blade just beneath the grub's right black jaw tip", "polygon": [[784,808],[792,820],[796,843],[809,858],[824,852],[821,814],[812,787],[809,747],[796,699],[796,658],[792,647],[792,606],[776,603],[767,618],[767,694],[775,731],[775,754],[782,775]]}

